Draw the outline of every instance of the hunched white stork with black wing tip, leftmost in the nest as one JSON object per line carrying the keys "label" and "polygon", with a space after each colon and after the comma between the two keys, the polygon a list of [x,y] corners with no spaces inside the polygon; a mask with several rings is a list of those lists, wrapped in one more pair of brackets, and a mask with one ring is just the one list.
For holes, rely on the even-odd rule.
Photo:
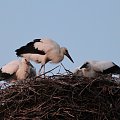
{"label": "hunched white stork with black wing tip, leftmost in the nest", "polygon": [[0,69],[0,80],[24,80],[35,75],[35,68],[25,58],[13,60]]}

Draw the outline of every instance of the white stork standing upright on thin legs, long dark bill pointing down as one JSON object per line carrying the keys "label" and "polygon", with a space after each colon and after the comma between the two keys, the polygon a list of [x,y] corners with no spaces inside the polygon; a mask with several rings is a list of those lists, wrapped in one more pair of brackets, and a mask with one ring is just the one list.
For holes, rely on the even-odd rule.
{"label": "white stork standing upright on thin legs, long dark bill pointing down", "polygon": [[73,62],[67,48],[60,47],[58,43],[49,38],[34,39],[32,42],[15,50],[15,52],[19,57],[41,63],[39,73],[42,67],[44,67],[43,73],[45,73],[45,64],[47,62],[51,61],[52,63],[59,63],[63,60],[64,55]]}

